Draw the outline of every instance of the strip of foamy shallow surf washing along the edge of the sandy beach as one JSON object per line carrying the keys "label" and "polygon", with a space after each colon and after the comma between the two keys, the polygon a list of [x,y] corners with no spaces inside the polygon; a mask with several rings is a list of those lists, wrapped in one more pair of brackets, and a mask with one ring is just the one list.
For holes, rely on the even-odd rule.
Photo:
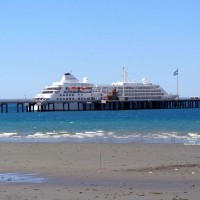
{"label": "strip of foamy shallow surf washing along the edge of the sandy beach", "polygon": [[86,133],[35,133],[27,136],[20,136],[17,133],[2,133],[1,143],[69,143],[69,144],[184,144],[200,145],[200,136],[197,133],[178,135],[177,133],[161,134],[133,134],[117,135],[103,132]]}

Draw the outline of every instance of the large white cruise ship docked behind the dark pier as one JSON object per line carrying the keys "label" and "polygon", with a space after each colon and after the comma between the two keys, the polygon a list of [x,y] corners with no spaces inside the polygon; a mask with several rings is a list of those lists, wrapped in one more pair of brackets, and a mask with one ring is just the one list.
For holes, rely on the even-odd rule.
{"label": "large white cruise ship docked behind the dark pier", "polygon": [[[59,109],[63,102],[70,103],[71,108],[76,110],[77,102],[91,102],[101,100],[131,100],[150,101],[175,99],[176,95],[168,94],[157,84],[149,83],[143,79],[141,83],[128,82],[126,71],[123,68],[122,82],[111,85],[95,85],[88,83],[88,78],[79,81],[70,73],[62,76],[59,82],[46,86],[41,93],[34,97],[37,102],[58,102],[55,109]],[[114,93],[113,93],[114,91]],[[113,96],[113,94],[115,96]],[[60,106],[59,106],[60,104]],[[73,105],[74,104],[74,105]]]}

